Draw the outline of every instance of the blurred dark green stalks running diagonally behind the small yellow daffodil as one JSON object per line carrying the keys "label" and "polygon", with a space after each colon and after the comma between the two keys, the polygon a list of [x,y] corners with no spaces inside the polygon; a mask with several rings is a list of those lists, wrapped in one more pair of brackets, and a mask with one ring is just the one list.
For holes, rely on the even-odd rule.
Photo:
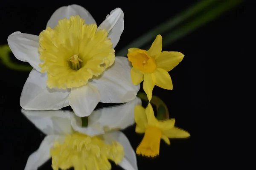
{"label": "blurred dark green stalks running diagonally behind the small yellow daffodil", "polygon": [[[184,35],[188,34],[191,31],[194,31],[196,28],[204,25],[205,23],[213,20],[214,18],[218,17],[225,11],[237,6],[239,3],[241,3],[242,0],[202,0],[198,2],[197,4],[191,6],[189,9],[185,10],[181,14],[177,15],[176,17],[167,20],[157,28],[152,29],[148,33],[144,34],[143,36],[137,38],[124,48],[122,48],[116,56],[126,56],[128,53],[128,48],[141,48],[145,46],[146,44],[153,42],[157,34],[163,34],[166,31],[171,30],[175,26],[179,25],[180,23],[188,20],[189,18],[192,18],[191,21],[183,26],[182,28],[177,28],[174,32],[169,33],[167,36],[168,38],[164,38],[163,40],[163,46],[168,45],[170,42],[173,42]],[[216,4],[217,7],[216,7]],[[195,18],[194,16],[198,15],[198,13],[204,11],[206,8],[208,8],[206,13],[203,13],[199,17]],[[149,49],[150,46],[148,46],[145,49]]]}

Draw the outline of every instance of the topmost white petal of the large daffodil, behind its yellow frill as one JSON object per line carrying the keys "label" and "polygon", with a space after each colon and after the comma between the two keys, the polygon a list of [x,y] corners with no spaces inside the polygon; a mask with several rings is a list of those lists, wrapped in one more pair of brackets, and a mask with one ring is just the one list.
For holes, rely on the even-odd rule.
{"label": "topmost white petal of the large daffodil, behind its yellow frill", "polygon": [[81,18],[85,20],[86,24],[96,23],[93,19],[92,15],[89,11],[87,11],[84,7],[79,5],[70,5],[70,6],[62,6],[58,8],[51,16],[47,23],[47,27],[54,28],[58,25],[58,20],[67,18],[70,19],[71,16],[79,15]]}

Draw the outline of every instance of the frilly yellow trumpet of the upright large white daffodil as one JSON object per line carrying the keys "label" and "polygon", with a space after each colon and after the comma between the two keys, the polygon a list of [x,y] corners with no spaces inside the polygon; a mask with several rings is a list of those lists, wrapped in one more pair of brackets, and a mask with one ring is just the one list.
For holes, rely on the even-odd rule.
{"label": "frilly yellow trumpet of the upright large white daffodil", "polygon": [[47,71],[49,88],[77,88],[98,77],[115,61],[108,31],[87,25],[79,16],[58,21],[39,35],[41,72]]}

